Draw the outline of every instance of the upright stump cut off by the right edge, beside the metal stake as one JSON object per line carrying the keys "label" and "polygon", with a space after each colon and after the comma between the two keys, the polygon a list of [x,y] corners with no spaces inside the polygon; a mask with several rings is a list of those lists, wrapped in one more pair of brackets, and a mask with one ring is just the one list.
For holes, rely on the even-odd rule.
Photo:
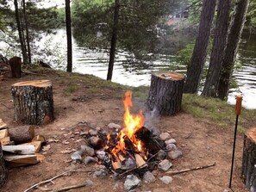
{"label": "upright stump cut off by the right edge, beside the metal stake", "polygon": [[243,183],[250,191],[256,191],[256,127],[253,127],[245,133],[242,178]]}

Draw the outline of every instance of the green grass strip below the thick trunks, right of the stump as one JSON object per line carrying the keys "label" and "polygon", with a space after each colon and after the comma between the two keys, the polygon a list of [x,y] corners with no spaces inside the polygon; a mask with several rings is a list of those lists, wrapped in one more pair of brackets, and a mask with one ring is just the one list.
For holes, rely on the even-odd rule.
{"label": "green grass strip below the thick trunks, right of the stump", "polygon": [[[220,99],[197,96],[196,94],[184,94],[182,109],[197,118],[215,123],[219,127],[234,126],[236,115],[234,106]],[[239,131],[243,132],[251,126],[256,116],[256,110],[242,108],[239,118]]]}

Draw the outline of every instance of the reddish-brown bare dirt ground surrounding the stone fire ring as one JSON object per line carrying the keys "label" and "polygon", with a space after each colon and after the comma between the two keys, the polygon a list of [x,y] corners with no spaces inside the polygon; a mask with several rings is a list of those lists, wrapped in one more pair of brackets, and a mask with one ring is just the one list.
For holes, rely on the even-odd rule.
{"label": "reddish-brown bare dirt ground surrounding the stone fire ring", "polygon": [[[71,154],[61,153],[64,150],[78,149],[84,145],[81,136],[73,135],[76,130],[73,126],[79,121],[90,123],[91,127],[101,127],[108,130],[109,122],[122,125],[123,106],[122,96],[115,95],[116,90],[101,90],[91,93],[87,90],[86,84],[79,84],[79,89],[70,96],[65,96],[63,90],[65,79],[53,75],[41,77],[36,75],[26,75],[21,79],[6,78],[0,81],[0,118],[9,127],[15,127],[13,102],[10,95],[11,84],[30,79],[51,79],[53,82],[53,100],[55,110],[55,121],[38,127],[36,134],[42,134],[48,140],[50,149],[46,151],[46,159],[40,163],[27,167],[10,168],[7,183],[2,191],[19,192],[28,189],[34,183],[39,183],[52,178],[66,170],[91,170],[73,172],[65,177],[59,177],[53,183],[42,185],[43,189],[59,189],[61,187],[84,183],[86,179],[91,179],[93,185],[81,189],[70,191],[114,191],[114,186],[118,183],[116,191],[124,191],[124,179],[115,181],[109,177],[104,179],[92,177],[93,170],[97,165],[71,164]],[[84,102],[72,101],[72,98],[86,96]],[[142,102],[136,100],[134,107]],[[178,148],[183,152],[183,157],[172,161],[172,170],[182,170],[194,166],[216,163],[214,167],[205,170],[195,170],[173,176],[173,182],[166,185],[159,181],[159,177],[165,173],[157,170],[155,172],[157,181],[154,183],[142,183],[135,191],[231,191],[228,189],[229,172],[231,163],[231,153],[233,146],[234,127],[222,129],[213,123],[198,120],[192,115],[184,112],[175,116],[159,118],[157,127],[161,132],[169,131],[172,138],[177,140]],[[81,130],[78,130],[81,131]],[[83,130],[82,130],[83,131]],[[71,134],[69,134],[71,133]],[[51,142],[50,142],[51,141]],[[241,155],[243,147],[243,135],[238,134],[235,162],[234,180],[232,183],[234,191],[248,191],[245,189],[240,179]],[[41,152],[42,153],[42,152]],[[32,191],[42,191],[34,189]]]}

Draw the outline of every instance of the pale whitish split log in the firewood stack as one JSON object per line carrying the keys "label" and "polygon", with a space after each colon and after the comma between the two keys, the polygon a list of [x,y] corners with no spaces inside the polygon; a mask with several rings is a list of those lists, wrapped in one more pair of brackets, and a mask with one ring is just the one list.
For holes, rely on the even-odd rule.
{"label": "pale whitish split log in the firewood stack", "polygon": [[12,152],[16,154],[29,155],[34,154],[34,146],[2,146],[3,152]]}

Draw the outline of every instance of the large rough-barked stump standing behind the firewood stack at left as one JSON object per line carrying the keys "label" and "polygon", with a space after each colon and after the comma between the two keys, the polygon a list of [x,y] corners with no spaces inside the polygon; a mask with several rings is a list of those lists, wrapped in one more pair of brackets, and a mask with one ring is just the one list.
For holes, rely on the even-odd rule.
{"label": "large rough-barked stump standing behind the firewood stack at left", "polygon": [[13,84],[15,120],[29,125],[53,121],[53,88],[49,80]]}

